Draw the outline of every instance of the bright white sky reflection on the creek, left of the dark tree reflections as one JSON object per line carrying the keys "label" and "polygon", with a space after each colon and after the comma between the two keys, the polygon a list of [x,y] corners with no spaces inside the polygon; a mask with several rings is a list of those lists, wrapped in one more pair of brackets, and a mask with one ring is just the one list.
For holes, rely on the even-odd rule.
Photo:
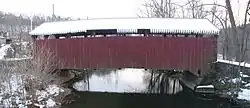
{"label": "bright white sky reflection on the creek, left of the dark tree reflections", "polygon": [[[108,72],[106,75],[96,75],[89,78],[90,91],[101,92],[136,92],[146,90],[144,69],[122,69]],[[74,88],[78,91],[87,91],[84,81],[75,83]]]}

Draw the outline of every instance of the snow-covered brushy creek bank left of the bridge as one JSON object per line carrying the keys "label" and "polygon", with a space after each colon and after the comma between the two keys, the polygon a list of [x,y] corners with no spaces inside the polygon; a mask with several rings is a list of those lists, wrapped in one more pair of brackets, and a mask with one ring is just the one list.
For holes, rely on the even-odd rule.
{"label": "snow-covered brushy creek bank left of the bridge", "polygon": [[[0,59],[30,57],[29,43],[14,43],[0,48]],[[10,55],[13,56],[10,56]],[[70,93],[61,87],[56,75],[59,66],[49,51],[38,51],[34,59],[6,62],[0,65],[0,107],[57,107]]]}

